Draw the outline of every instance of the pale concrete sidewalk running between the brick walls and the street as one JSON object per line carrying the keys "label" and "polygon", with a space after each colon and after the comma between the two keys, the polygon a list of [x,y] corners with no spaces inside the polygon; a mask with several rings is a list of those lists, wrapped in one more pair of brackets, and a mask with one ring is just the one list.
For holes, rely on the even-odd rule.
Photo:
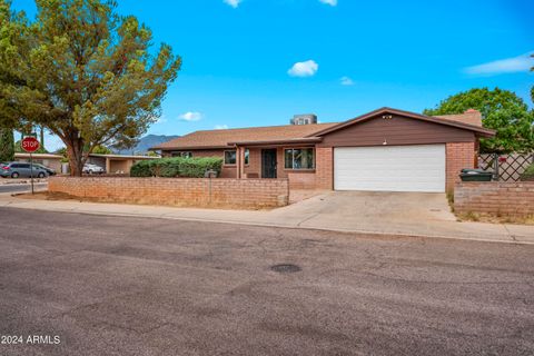
{"label": "pale concrete sidewalk running between the brick walls and the street", "polygon": [[360,219],[347,218],[347,216],[328,214],[327,210],[307,209],[307,206],[312,206],[316,199],[324,198],[325,196],[317,196],[304,202],[275,210],[250,211],[80,202],[76,200],[49,201],[22,199],[2,194],[0,195],[0,207],[534,245],[533,226],[458,222],[454,220],[400,222],[386,221],[387,219],[385,219],[377,222],[378,220],[375,219],[366,222]]}

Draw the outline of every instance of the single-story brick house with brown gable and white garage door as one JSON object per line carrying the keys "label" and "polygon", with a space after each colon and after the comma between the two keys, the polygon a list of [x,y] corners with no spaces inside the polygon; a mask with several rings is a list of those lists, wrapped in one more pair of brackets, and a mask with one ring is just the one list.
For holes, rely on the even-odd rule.
{"label": "single-story brick house with brown gable and white garage door", "polygon": [[224,178],[289,178],[291,188],[428,191],[454,188],[492,137],[481,113],[427,117],[382,108],[338,123],[196,131],[152,147],[162,156],[222,157]]}

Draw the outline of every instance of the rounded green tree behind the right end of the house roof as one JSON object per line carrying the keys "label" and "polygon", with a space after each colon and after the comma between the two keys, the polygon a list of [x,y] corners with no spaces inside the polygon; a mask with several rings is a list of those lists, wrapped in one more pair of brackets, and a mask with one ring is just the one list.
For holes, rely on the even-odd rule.
{"label": "rounded green tree behind the right end of the house roof", "polygon": [[424,113],[463,113],[467,109],[481,111],[483,126],[496,130],[494,138],[481,139],[482,152],[505,154],[534,149],[534,115],[522,98],[508,90],[471,89],[448,97]]}

